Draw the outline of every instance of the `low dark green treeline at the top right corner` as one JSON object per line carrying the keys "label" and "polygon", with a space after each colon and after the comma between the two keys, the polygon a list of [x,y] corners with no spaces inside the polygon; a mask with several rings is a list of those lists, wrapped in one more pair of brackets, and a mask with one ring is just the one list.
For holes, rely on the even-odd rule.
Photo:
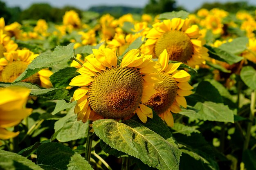
{"label": "low dark green treeline at the top right corner", "polygon": [[208,10],[211,10],[213,8],[219,8],[219,9],[223,9],[225,11],[228,11],[230,13],[236,13],[239,10],[247,10],[247,11],[254,11],[254,10],[256,10],[256,6],[250,5],[246,1],[225,2],[225,3],[221,3],[221,2],[213,2],[213,3],[205,2],[204,4],[202,4],[201,7],[196,9],[195,12],[197,12],[199,9],[202,9],[202,8],[205,8],[205,9],[208,9]]}

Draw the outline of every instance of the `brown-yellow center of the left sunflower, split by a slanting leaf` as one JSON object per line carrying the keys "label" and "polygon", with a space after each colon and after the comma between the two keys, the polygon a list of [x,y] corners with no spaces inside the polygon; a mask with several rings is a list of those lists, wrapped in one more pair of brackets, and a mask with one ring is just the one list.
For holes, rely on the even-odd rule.
{"label": "brown-yellow center of the left sunflower, split by a slanting leaf", "polygon": [[[23,61],[14,61],[11,64],[8,64],[2,70],[2,81],[13,82],[23,71],[26,70],[27,66],[28,63]],[[38,73],[31,75],[30,77],[22,80],[22,82],[31,82],[34,84],[39,84],[39,75]]]}

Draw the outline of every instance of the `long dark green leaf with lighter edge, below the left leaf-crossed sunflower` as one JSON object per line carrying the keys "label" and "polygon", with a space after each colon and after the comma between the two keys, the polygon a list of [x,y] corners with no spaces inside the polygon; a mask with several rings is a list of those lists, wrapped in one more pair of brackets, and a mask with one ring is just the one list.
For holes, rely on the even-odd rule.
{"label": "long dark green leaf with lighter edge, below the left leaf-crossed sunflower", "polygon": [[30,90],[31,96],[42,97],[49,100],[70,100],[70,95],[68,91],[61,88],[40,88],[35,84],[26,83],[26,82],[18,82],[13,84],[0,84],[0,87],[9,87],[9,86],[20,86],[25,87]]}

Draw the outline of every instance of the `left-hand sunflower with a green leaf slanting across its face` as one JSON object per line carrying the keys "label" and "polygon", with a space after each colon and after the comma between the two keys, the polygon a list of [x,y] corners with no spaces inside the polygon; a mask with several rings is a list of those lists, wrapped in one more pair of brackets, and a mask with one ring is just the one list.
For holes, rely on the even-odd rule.
{"label": "left-hand sunflower with a green leaf slanting across its face", "polygon": [[[17,50],[4,53],[4,58],[0,58],[0,66],[2,66],[0,67],[0,82],[13,82],[26,70],[29,63],[31,63],[37,55],[38,54],[34,54],[29,50]],[[52,83],[49,81],[50,75],[52,75],[52,71],[43,69],[22,81],[50,88],[52,87]]]}

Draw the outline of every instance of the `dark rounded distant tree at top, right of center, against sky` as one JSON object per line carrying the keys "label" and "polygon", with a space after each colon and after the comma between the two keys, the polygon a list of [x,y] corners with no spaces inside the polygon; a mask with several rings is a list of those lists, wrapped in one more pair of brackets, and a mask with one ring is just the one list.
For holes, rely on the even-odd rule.
{"label": "dark rounded distant tree at top, right of center, against sky", "polygon": [[171,11],[180,11],[183,7],[177,7],[175,0],[149,0],[144,7],[145,13],[159,14]]}

